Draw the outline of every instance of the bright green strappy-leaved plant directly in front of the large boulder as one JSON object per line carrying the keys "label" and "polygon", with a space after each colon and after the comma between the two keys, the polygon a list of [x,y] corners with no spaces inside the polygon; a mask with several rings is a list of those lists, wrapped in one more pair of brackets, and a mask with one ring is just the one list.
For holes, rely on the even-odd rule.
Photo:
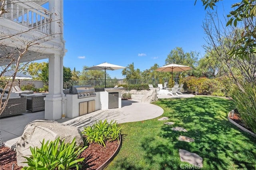
{"label": "bright green strappy-leaved plant directly in front of the large boulder", "polygon": [[86,149],[86,147],[77,147],[76,139],[74,138],[72,143],[65,143],[60,141],[60,137],[54,141],[42,141],[42,146],[30,147],[31,155],[26,158],[28,166],[22,168],[22,170],[69,170],[76,167],[78,170],[82,165],[78,164],[82,162],[84,158],[79,158],[80,153]]}

